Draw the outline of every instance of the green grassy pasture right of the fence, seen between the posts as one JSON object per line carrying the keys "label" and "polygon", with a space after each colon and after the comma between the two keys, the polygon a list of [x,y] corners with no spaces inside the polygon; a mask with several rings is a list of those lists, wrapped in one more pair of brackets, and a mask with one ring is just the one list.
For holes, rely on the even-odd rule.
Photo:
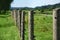
{"label": "green grassy pasture right of the fence, seen between the posts", "polygon": [[[26,22],[28,22],[26,16]],[[28,35],[28,26],[26,25],[26,35]],[[34,15],[34,35],[36,40],[52,40],[52,15],[35,14]],[[28,36],[25,36],[28,40]]]}

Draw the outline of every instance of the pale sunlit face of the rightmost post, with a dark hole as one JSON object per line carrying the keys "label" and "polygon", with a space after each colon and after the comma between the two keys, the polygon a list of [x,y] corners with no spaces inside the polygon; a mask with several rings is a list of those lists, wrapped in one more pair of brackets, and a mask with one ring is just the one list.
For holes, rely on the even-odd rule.
{"label": "pale sunlit face of the rightmost post, with a dark hole", "polygon": [[53,10],[53,40],[57,40],[57,13]]}

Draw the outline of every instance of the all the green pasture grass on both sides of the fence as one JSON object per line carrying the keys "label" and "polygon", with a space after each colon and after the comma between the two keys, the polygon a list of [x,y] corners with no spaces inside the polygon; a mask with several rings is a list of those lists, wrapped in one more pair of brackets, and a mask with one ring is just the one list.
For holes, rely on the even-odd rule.
{"label": "all the green pasture grass on both sides of the fence", "polygon": [[[25,40],[28,40],[28,17],[25,16]],[[52,15],[34,14],[36,40],[52,40]],[[0,40],[19,40],[19,31],[10,14],[0,15]]]}

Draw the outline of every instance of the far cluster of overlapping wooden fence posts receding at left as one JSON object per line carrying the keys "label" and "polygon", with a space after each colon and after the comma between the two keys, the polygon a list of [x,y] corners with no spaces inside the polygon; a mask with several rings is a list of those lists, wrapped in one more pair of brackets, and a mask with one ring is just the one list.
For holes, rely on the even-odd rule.
{"label": "far cluster of overlapping wooden fence posts receding at left", "polygon": [[21,37],[21,40],[25,40],[24,39],[24,19],[25,19],[25,14],[23,13],[23,11],[21,10],[13,10],[11,12],[12,14],[12,17],[14,18],[15,20],[15,24],[16,26],[18,27],[19,29],[19,32],[20,32],[20,37]]}

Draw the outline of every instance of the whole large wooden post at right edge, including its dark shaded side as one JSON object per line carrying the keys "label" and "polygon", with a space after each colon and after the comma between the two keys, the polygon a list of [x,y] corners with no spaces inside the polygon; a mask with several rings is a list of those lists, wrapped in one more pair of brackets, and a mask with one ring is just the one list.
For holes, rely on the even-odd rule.
{"label": "whole large wooden post at right edge, including its dark shaded side", "polygon": [[53,10],[53,40],[60,40],[60,9]]}

